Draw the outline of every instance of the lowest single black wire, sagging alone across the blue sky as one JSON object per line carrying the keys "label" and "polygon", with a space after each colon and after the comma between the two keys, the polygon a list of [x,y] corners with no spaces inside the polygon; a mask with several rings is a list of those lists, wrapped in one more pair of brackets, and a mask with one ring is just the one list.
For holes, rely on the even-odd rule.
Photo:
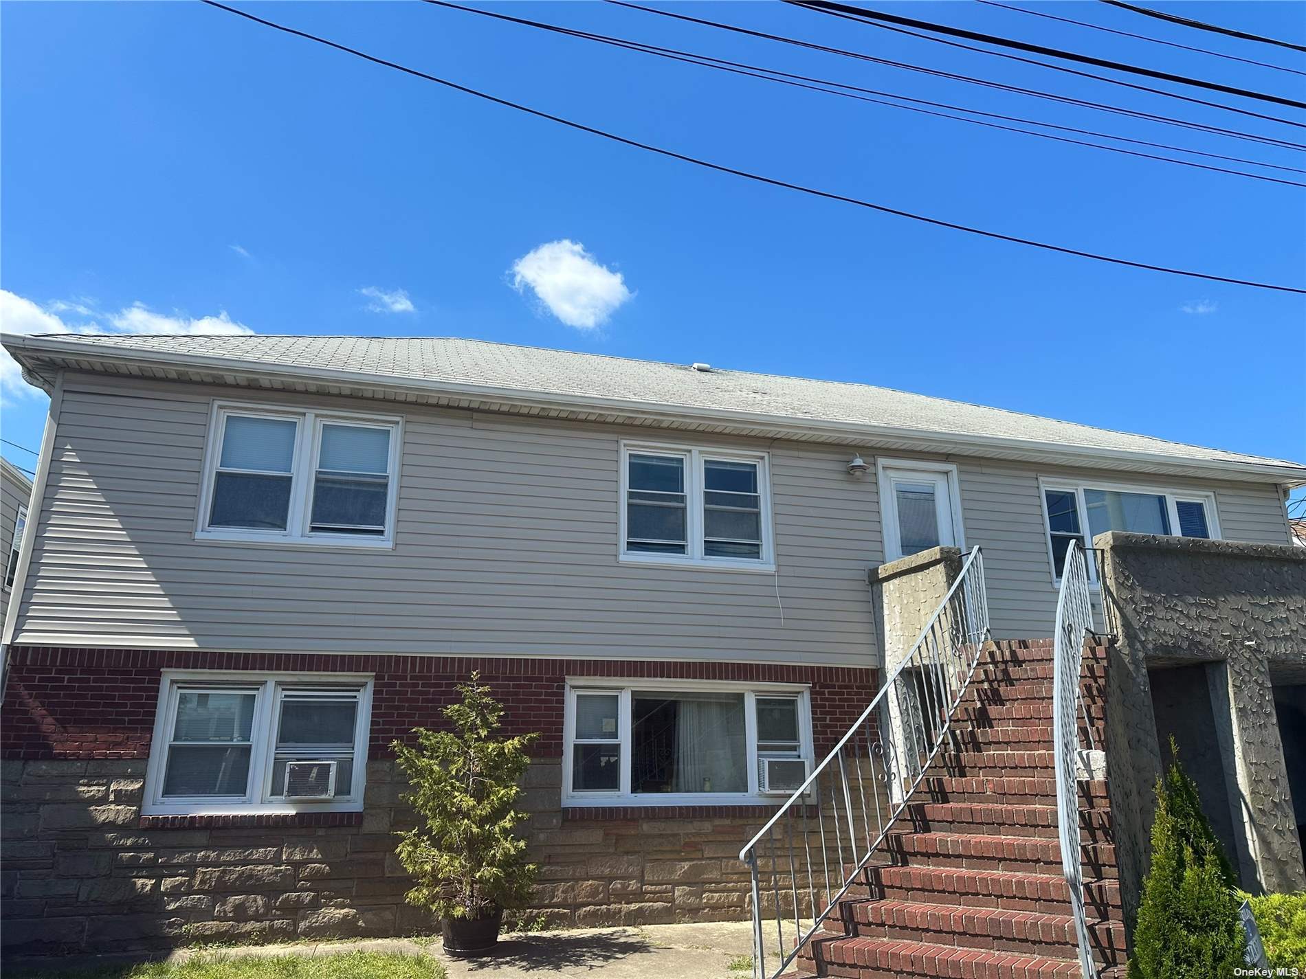
{"label": "lowest single black wire, sagging alone across the blue sky", "polygon": [[226,10],[227,13],[232,13],[236,17],[243,17],[243,18],[246,18],[248,21],[253,21],[255,23],[261,23],[265,27],[272,27],[273,30],[279,30],[279,31],[282,31],[285,34],[293,34],[294,37],[304,38],[306,40],[312,40],[312,42],[315,42],[317,44],[324,44],[324,46],[334,48],[337,51],[343,51],[345,54],[354,55],[355,57],[362,57],[363,60],[371,61],[372,64],[379,64],[379,65],[381,65],[384,68],[392,68],[392,69],[394,69],[397,72],[404,72],[405,74],[411,74],[415,78],[423,78],[426,81],[435,82],[436,85],[443,85],[443,86],[445,86],[448,89],[453,89],[454,91],[461,91],[461,93],[464,93],[466,95],[474,95],[475,98],[485,99],[486,102],[492,102],[492,103],[495,103],[498,106],[504,106],[505,108],[513,108],[513,110],[517,110],[518,112],[525,112],[528,115],[535,116],[537,119],[547,119],[551,123],[558,123],[559,125],[565,125],[565,127],[568,127],[571,129],[577,129],[580,132],[590,133],[593,136],[601,136],[605,140],[611,140],[613,142],[619,142],[619,144],[622,144],[624,146],[633,146],[635,149],[645,150],[648,153],[656,153],[656,154],[658,154],[661,157],[669,157],[671,159],[679,159],[679,161],[682,161],[684,163],[692,163],[695,166],[704,167],[707,170],[714,170],[714,171],[717,171],[720,174],[730,174],[733,176],[739,176],[739,178],[743,178],[746,180],[752,180],[752,181],[760,183],[760,184],[768,184],[771,187],[781,187],[781,188],[785,188],[788,191],[797,191],[798,193],[806,193],[806,194],[810,194],[812,197],[821,197],[821,198],[829,200],[829,201],[840,201],[842,204],[852,204],[854,206],[866,208],[868,210],[880,211],[883,214],[895,214],[895,215],[897,215],[900,218],[909,218],[910,221],[919,221],[922,223],[934,225],[936,227],[947,227],[947,228],[952,228],[953,231],[965,231],[966,234],[980,235],[982,238],[993,238],[993,239],[996,239],[996,240],[1000,240],[1000,241],[1011,241],[1013,244],[1029,245],[1032,248],[1041,248],[1041,249],[1049,251],[1049,252],[1059,252],[1062,255],[1075,255],[1075,256],[1079,256],[1081,258],[1092,258],[1094,261],[1110,262],[1113,265],[1127,265],[1127,266],[1135,268],[1135,269],[1147,269],[1147,270],[1151,270],[1151,272],[1164,272],[1164,273],[1168,273],[1168,274],[1171,274],[1171,275],[1185,275],[1187,278],[1199,278],[1199,279],[1207,279],[1207,281],[1212,281],[1212,282],[1228,282],[1228,283],[1235,285],[1235,286],[1251,286],[1252,288],[1268,288],[1268,290],[1273,290],[1276,292],[1294,292],[1294,294],[1298,294],[1298,295],[1306,295],[1306,288],[1299,288],[1297,286],[1280,286],[1280,285],[1267,283],[1267,282],[1254,282],[1254,281],[1250,281],[1250,279],[1238,279],[1238,278],[1233,278],[1233,277],[1228,277],[1228,275],[1213,275],[1213,274],[1203,273],[1203,272],[1191,272],[1191,270],[1187,270],[1187,269],[1174,269],[1174,268],[1169,268],[1169,266],[1165,266],[1165,265],[1152,265],[1149,262],[1139,262],[1139,261],[1132,261],[1132,260],[1128,260],[1128,258],[1117,258],[1114,256],[1097,255],[1094,252],[1087,252],[1087,251],[1077,249],[1077,248],[1068,248],[1066,245],[1049,244],[1046,241],[1036,241],[1033,239],[1017,238],[1015,235],[1004,235],[1004,234],[998,232],[998,231],[987,231],[987,230],[983,230],[983,228],[976,228],[976,227],[970,227],[968,225],[960,225],[960,223],[956,223],[956,222],[952,222],[952,221],[944,221],[942,218],[931,218],[931,217],[927,217],[927,215],[923,215],[923,214],[914,214],[912,211],[901,210],[899,208],[889,208],[889,206],[883,205],[883,204],[874,204],[871,201],[865,201],[865,200],[861,200],[858,197],[850,197],[850,196],[846,196],[846,194],[835,193],[832,191],[821,191],[821,189],[818,189],[818,188],[814,188],[814,187],[806,187],[803,184],[794,184],[794,183],[790,183],[788,180],[780,180],[777,178],[764,176],[761,174],[754,174],[754,172],[750,172],[747,170],[739,170],[737,167],[727,167],[727,166],[725,166],[722,163],[712,163],[710,161],[700,159],[697,157],[690,157],[690,155],[683,154],[683,153],[677,153],[675,150],[667,150],[667,149],[663,149],[661,146],[654,146],[652,144],[640,142],[637,140],[631,140],[628,137],[618,136],[615,133],[610,133],[610,132],[606,132],[603,129],[598,129],[598,128],[592,127],[592,125],[585,125],[584,123],[576,123],[576,121],[573,121],[571,119],[564,119],[563,116],[558,116],[558,115],[552,115],[550,112],[545,112],[543,110],[532,108],[529,106],[524,106],[524,104],[517,103],[517,102],[511,102],[508,99],[499,98],[498,95],[491,95],[491,94],[485,93],[485,91],[478,91],[477,89],[471,89],[471,87],[469,87],[466,85],[460,85],[460,84],[449,81],[447,78],[440,78],[440,77],[434,76],[434,74],[427,74],[426,72],[419,72],[415,68],[407,68],[406,65],[398,64],[396,61],[388,61],[385,59],[376,57],[375,55],[368,55],[368,54],[366,54],[363,51],[359,51],[357,48],[346,47],[345,44],[340,44],[340,43],[334,42],[334,40],[328,40],[326,38],[317,37],[316,34],[308,34],[307,31],[296,30],[295,27],[287,27],[287,26],[285,26],[282,23],[277,23],[274,21],[264,20],[263,17],[256,17],[252,13],[246,13],[244,10],[239,10],[239,9],[234,8],[234,7],[227,7],[226,4],[221,4],[217,0],[201,0],[201,1],[204,4],[208,4],[209,7],[215,7],[219,10]]}

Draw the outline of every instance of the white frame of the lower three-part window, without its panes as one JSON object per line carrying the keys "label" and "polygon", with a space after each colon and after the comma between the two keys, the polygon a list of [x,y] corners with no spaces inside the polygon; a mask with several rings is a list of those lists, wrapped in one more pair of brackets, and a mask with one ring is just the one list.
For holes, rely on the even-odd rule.
{"label": "white frame of the lower three-part window, without its panes", "polygon": [[[631,791],[631,694],[635,691],[666,693],[742,693],[744,696],[744,748],[748,769],[746,792],[632,792]],[[577,693],[618,693],[616,731],[620,743],[622,775],[614,790],[572,790],[572,756],[576,732]],[[799,757],[812,771],[811,688],[807,684],[747,683],[725,680],[665,680],[653,677],[567,677],[567,702],[563,710],[563,808],[584,809],[606,805],[774,805],[789,792],[759,791],[757,770],[757,697],[794,697],[798,700]],[[769,754],[768,754],[769,756]],[[774,756],[778,757],[778,756]]]}

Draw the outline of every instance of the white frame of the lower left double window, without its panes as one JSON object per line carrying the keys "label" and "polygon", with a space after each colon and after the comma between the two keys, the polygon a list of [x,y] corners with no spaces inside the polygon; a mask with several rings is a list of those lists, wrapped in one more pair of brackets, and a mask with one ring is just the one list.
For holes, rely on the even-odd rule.
{"label": "white frame of the lower left double window, without its panes", "polygon": [[[362,812],[367,791],[367,745],[372,721],[371,674],[265,674],[229,670],[165,670],[159,681],[154,738],[145,775],[142,816],[286,815],[296,812]],[[163,775],[182,689],[210,685],[214,692],[239,687],[255,692],[251,727],[249,775],[242,796],[165,798]],[[354,786],[349,796],[324,801],[294,801],[272,786],[277,753],[277,722],[286,688],[350,687],[358,691],[354,730]]]}

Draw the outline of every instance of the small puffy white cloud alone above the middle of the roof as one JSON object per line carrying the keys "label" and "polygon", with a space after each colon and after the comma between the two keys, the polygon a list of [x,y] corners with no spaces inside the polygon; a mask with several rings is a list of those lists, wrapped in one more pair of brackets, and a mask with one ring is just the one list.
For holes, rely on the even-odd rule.
{"label": "small puffy white cloud alone above the middle of the roof", "polygon": [[562,239],[533,248],[512,264],[512,286],[530,286],[549,312],[579,330],[592,330],[631,298],[619,272],[594,261],[580,241]]}

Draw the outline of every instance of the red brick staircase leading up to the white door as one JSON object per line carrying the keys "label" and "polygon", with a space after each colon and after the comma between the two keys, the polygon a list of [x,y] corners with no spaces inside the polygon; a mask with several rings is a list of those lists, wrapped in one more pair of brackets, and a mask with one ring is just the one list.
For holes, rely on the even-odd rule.
{"label": "red brick staircase leading up to the white door", "polygon": [[[1051,659],[1051,640],[985,650],[949,740],[824,932],[799,953],[795,976],[1080,975],[1057,839]],[[1085,649],[1080,684],[1097,747],[1104,670],[1105,649]],[[1117,979],[1124,925],[1106,782],[1079,786],[1089,935],[1101,975]]]}

